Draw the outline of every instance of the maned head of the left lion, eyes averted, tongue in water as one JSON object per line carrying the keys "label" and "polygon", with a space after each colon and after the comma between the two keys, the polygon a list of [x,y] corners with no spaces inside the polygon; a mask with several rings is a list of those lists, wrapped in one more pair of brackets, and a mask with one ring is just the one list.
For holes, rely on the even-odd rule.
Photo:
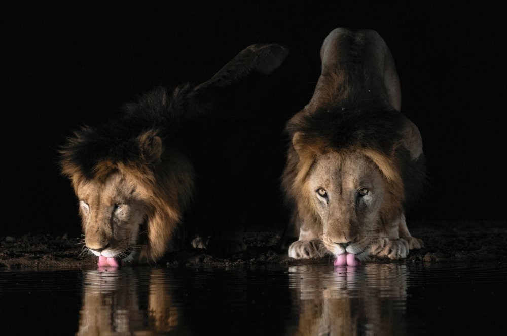
{"label": "maned head of the left lion, eyes averted, tongue in water", "polygon": [[155,130],[118,141],[85,127],[61,152],[63,174],[79,199],[85,245],[99,265],[163,255],[191,199],[190,162],[164,150]]}

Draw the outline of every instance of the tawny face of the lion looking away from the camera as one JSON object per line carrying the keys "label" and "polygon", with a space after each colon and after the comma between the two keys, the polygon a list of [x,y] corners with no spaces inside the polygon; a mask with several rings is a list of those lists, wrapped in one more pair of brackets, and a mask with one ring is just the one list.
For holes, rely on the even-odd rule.
{"label": "tawny face of the lion looking away from the camera", "polygon": [[139,189],[134,181],[117,172],[103,181],[78,185],[85,244],[93,254],[117,260],[133,257],[148,209]]}

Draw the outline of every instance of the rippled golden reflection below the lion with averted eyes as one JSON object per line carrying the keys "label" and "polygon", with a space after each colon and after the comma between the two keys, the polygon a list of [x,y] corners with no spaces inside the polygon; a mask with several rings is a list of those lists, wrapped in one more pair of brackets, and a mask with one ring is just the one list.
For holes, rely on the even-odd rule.
{"label": "rippled golden reflection below the lion with averted eyes", "polygon": [[157,268],[142,273],[135,268],[85,271],[77,334],[185,333],[169,287],[166,274]]}

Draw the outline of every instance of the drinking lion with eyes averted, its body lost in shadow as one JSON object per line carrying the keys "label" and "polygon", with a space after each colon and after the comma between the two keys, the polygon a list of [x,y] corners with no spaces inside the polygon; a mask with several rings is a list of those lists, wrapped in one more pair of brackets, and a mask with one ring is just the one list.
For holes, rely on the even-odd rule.
{"label": "drinking lion with eyes averted, its body lost in shadow", "polygon": [[251,45],[208,81],[156,88],[67,139],[61,171],[100,266],[156,262],[181,242],[217,254],[245,249],[242,225],[256,201],[271,199],[265,161],[284,124],[262,94],[290,82],[288,54],[281,44]]}

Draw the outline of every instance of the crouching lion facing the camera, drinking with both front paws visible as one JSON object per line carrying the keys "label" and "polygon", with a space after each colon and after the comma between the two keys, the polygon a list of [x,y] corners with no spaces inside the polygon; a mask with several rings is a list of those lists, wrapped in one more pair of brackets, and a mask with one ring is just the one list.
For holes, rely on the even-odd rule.
{"label": "crouching lion facing the camera, drinking with both front paws visible", "polygon": [[314,94],[286,125],[286,234],[299,233],[288,254],[333,255],[335,265],[406,258],[423,246],[405,212],[421,197],[425,169],[420,132],[400,113],[392,55],[377,32],[345,28],[325,38],[320,55]]}

